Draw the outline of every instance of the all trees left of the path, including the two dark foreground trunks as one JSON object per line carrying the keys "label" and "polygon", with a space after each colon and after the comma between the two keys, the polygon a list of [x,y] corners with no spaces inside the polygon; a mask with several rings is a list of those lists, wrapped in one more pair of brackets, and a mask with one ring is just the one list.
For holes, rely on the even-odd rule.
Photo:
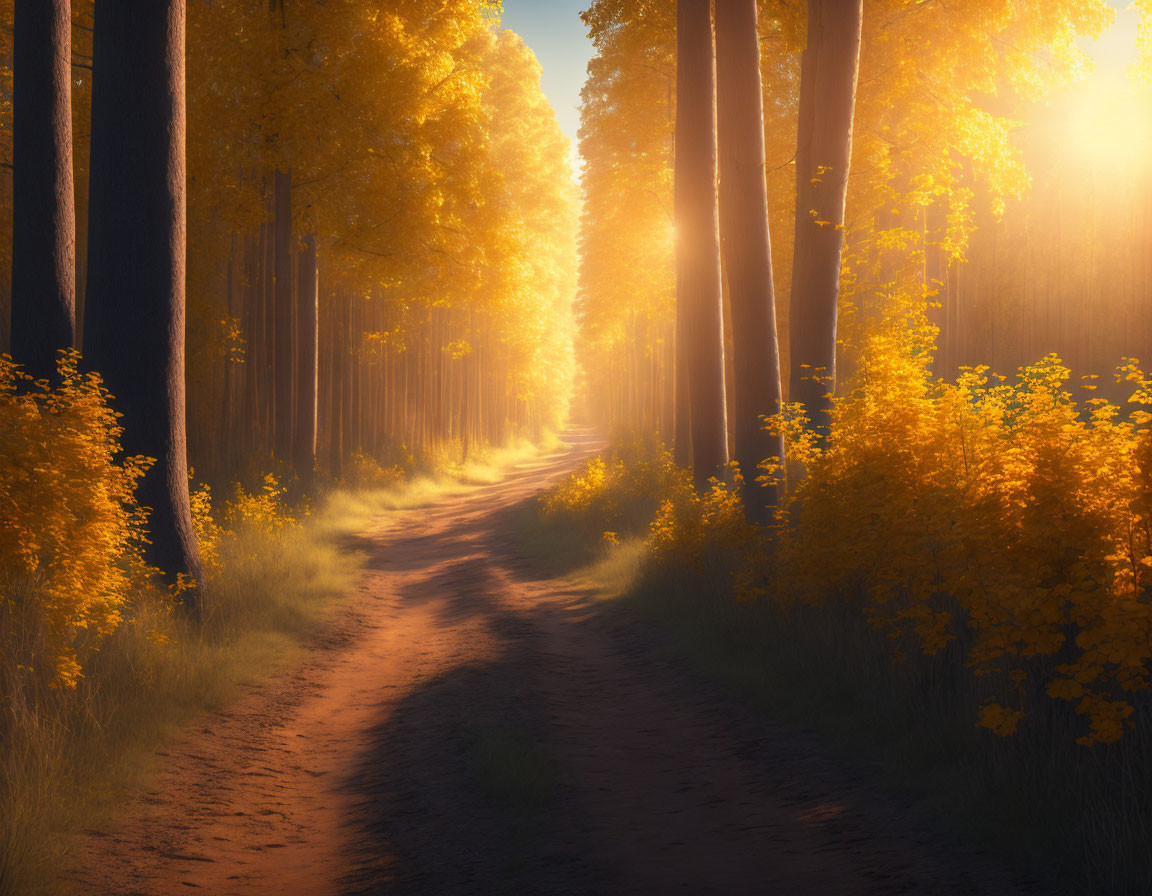
{"label": "all trees left of the path, including the two dark foreground trunks", "polygon": [[12,354],[101,373],[169,576],[185,446],[308,484],[567,413],[568,144],[493,5],[3,7]]}

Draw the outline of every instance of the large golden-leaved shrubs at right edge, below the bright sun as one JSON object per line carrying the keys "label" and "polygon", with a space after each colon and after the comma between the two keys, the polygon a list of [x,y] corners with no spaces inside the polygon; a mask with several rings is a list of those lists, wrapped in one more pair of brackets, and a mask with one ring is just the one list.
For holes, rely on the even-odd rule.
{"label": "large golden-leaved shrubs at right edge, below the bright sun", "polygon": [[1014,694],[980,713],[998,734],[1047,694],[1086,717],[1079,743],[1117,741],[1152,683],[1147,379],[1117,373],[1136,385],[1123,415],[1075,400],[1054,356],[1014,382],[984,367],[943,382],[915,329],[892,326],[862,358],[829,439],[795,409],[770,423],[806,471],[781,510],[780,594],[863,595],[894,644],[958,646]]}

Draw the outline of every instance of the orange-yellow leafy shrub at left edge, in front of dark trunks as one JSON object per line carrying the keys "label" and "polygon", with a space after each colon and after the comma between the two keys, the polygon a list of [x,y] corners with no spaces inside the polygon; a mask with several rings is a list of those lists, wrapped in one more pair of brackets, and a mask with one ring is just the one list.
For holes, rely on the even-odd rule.
{"label": "orange-yellow leafy shrub at left edge, in front of dark trunks", "polygon": [[29,683],[73,686],[150,570],[121,428],[96,374],[62,352],[59,385],[0,356],[0,700]]}

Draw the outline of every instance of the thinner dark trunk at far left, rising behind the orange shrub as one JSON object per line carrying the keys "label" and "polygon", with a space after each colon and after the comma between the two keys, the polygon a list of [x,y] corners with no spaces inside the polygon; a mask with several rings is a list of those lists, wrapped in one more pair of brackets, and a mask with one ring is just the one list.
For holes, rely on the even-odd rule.
{"label": "thinner dark trunk at far left, rising behind the orange shrub", "polygon": [[12,356],[53,379],[76,340],[71,3],[16,0],[15,15]]}

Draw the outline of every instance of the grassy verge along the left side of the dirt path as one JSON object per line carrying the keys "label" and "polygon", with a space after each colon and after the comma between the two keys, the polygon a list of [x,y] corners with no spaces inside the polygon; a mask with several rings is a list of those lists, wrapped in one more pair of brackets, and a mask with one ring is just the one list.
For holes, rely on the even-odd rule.
{"label": "grassy verge along the left side of the dirt path", "polygon": [[[539,451],[520,443],[388,488],[334,488],[297,526],[241,524],[221,537],[200,622],[166,595],[141,594],[75,690],[2,707],[0,896],[52,893],[55,873],[74,861],[75,833],[149,787],[157,752],[190,719],[298,662],[359,575],[361,559],[342,547],[348,536],[499,481]],[[501,743],[488,750],[493,769],[508,765],[498,761]]]}

